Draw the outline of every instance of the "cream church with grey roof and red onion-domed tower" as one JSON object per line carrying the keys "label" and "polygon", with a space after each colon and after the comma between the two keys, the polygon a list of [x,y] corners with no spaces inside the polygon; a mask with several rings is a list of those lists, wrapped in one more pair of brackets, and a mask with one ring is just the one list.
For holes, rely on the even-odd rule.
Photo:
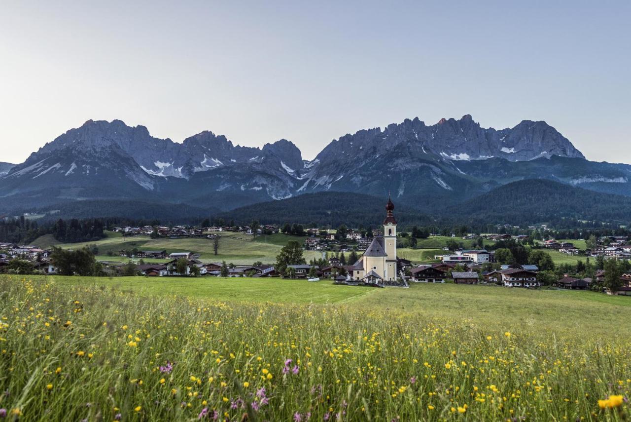
{"label": "cream church with grey roof and red onion-domed tower", "polygon": [[362,257],[352,267],[349,267],[348,276],[352,280],[366,284],[396,282],[396,220],[392,211],[394,211],[394,203],[388,195],[384,235],[375,236]]}

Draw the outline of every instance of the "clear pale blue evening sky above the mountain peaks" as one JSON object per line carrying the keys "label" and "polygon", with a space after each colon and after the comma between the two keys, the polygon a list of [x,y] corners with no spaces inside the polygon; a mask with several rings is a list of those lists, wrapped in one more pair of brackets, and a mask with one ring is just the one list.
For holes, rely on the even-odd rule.
{"label": "clear pale blue evening sky above the mountain peaks", "polygon": [[[392,4],[389,4],[392,3]],[[312,159],[418,116],[545,120],[631,163],[631,1],[20,1],[0,8],[0,161],[86,120]]]}

